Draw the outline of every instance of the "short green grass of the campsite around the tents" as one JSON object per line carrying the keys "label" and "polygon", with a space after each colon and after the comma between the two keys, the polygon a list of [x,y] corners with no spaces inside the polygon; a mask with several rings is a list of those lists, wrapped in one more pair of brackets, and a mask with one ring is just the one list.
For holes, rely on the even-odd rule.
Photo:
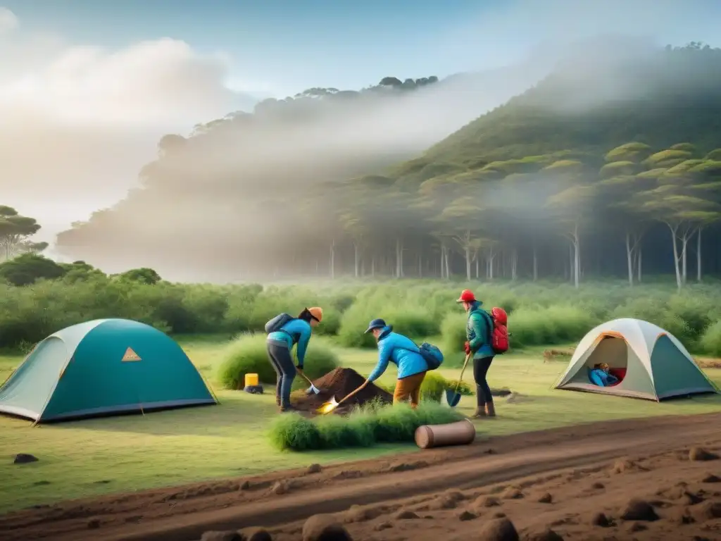
{"label": "short green grass of the campsite around the tents", "polygon": [[[224,340],[198,336],[181,340],[185,351],[213,386],[221,400],[219,406],[35,428],[30,428],[28,421],[0,416],[0,454],[5,457],[0,463],[4,489],[0,493],[0,512],[67,498],[239,477],[312,462],[340,462],[416,449],[409,444],[306,453],[275,451],[265,437],[267,421],[276,415],[273,395],[220,390],[215,381]],[[544,363],[541,351],[526,350],[495,361],[490,371],[491,386],[510,387],[521,397],[513,403],[497,400],[499,417],[477,423],[483,436],[602,419],[721,410],[721,396],[657,404],[552,391],[550,387],[566,363]],[[338,352],[344,366],[352,366],[363,374],[368,374],[376,359],[372,350]],[[20,356],[0,355],[0,381],[21,361]],[[457,378],[459,371],[443,369],[441,374]],[[721,383],[721,370],[708,373]],[[389,383],[393,378],[393,369],[383,377]],[[466,372],[464,379],[471,381],[471,374]],[[459,409],[470,413],[474,400],[464,397]],[[40,462],[13,465],[12,457],[22,452],[34,454]]]}

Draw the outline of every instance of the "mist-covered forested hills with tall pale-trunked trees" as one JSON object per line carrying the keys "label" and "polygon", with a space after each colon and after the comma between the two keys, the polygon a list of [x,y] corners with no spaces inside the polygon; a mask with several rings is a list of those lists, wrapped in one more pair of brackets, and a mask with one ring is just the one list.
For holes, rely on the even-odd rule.
{"label": "mist-covered forested hills with tall pale-trunked trees", "polygon": [[611,50],[559,63],[454,133],[468,102],[425,107],[454,84],[435,77],[265,100],[162,138],[141,188],[58,235],[58,248],[220,280],[578,286],[673,273],[680,288],[718,273],[721,50]]}

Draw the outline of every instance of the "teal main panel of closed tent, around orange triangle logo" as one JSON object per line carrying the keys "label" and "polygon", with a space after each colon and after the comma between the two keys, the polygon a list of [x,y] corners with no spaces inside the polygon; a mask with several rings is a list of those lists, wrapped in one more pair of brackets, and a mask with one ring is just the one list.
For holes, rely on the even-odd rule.
{"label": "teal main panel of closed tent, around orange triangle logo", "polygon": [[[128,348],[139,360],[123,361]],[[106,320],[79,343],[42,420],[214,403],[172,338],[149,325]]]}

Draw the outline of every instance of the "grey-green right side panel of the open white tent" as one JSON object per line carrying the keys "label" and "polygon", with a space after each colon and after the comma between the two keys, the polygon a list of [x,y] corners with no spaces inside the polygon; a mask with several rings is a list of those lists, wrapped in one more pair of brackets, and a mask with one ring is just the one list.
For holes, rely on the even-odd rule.
{"label": "grey-green right side panel of the open white tent", "polygon": [[701,369],[666,335],[656,340],[651,353],[651,369],[656,394],[660,399],[716,392]]}

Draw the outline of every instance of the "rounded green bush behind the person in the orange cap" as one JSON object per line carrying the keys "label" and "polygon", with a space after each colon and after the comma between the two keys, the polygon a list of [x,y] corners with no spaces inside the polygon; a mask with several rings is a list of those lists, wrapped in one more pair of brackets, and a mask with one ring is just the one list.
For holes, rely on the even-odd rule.
{"label": "rounded green bush behind the person in the orange cap", "polygon": [[[319,338],[311,338],[304,362],[306,376],[316,379],[337,366],[338,358],[335,352]],[[224,361],[218,368],[218,380],[226,389],[242,389],[245,374],[258,374],[261,382],[275,383],[276,374],[267,357],[265,335],[241,335],[226,347]],[[306,385],[301,378],[296,378],[296,382],[298,385]]]}

